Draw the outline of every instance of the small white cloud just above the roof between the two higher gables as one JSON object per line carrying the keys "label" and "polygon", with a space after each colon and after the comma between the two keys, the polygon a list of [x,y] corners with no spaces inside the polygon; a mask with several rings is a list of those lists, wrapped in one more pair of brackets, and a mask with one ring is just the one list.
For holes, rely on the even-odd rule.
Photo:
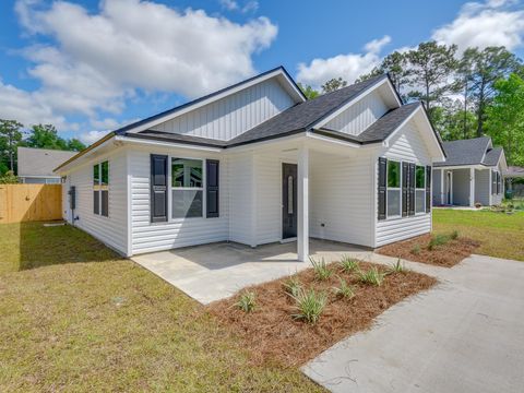
{"label": "small white cloud just above the roof between the two higher gables", "polygon": [[327,59],[313,59],[309,64],[299,63],[297,80],[314,88],[338,76],[353,83],[380,63],[380,51],[390,41],[391,37],[384,36],[367,43],[364,53],[338,55]]}

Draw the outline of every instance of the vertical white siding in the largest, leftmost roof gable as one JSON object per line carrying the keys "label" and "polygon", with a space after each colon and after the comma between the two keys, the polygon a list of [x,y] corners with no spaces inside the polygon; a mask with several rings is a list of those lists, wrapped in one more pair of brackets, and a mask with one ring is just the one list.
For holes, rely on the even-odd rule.
{"label": "vertical white siding in the largest, leftmost roof gable", "polygon": [[227,141],[293,105],[293,98],[278,81],[270,79],[152,129]]}

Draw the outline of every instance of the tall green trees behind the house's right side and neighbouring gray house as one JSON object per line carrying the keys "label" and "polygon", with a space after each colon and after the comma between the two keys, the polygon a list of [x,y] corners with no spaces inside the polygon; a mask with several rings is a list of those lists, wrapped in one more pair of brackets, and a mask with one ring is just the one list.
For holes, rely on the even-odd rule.
{"label": "tall green trees behind the house's right side and neighbouring gray house", "polygon": [[[407,51],[394,51],[365,81],[388,73],[405,103],[421,100],[434,129],[445,141],[489,135],[504,147],[510,165],[524,166],[524,67],[504,47],[468,48],[427,41]],[[315,91],[300,86],[314,98],[344,87],[332,79]]]}

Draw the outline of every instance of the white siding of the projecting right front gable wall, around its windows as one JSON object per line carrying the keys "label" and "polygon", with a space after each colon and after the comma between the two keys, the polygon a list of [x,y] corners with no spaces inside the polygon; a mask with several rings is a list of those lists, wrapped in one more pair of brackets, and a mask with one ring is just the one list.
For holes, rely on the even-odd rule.
{"label": "white siding of the projecting right front gable wall, around its windows", "polygon": [[[380,156],[418,165],[431,165],[431,156],[428,147],[414,119],[404,124],[392,138],[389,147],[384,147],[377,156],[374,160],[374,181],[377,181],[378,178],[378,157]],[[378,199],[378,195],[376,195],[376,198]],[[377,214],[378,212],[376,210],[376,247],[431,231],[431,213],[418,213],[414,216],[380,221],[377,218]]]}

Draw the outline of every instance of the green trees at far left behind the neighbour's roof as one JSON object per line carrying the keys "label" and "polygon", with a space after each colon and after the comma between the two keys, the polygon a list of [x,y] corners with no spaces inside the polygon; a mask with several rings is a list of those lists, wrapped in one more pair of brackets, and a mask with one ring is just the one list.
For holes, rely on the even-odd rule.
{"label": "green trees at far left behind the neighbour's roof", "polygon": [[16,172],[19,146],[80,152],[85,145],[76,138],[63,139],[52,124],[35,124],[24,130],[16,120],[0,119],[0,176]]}

